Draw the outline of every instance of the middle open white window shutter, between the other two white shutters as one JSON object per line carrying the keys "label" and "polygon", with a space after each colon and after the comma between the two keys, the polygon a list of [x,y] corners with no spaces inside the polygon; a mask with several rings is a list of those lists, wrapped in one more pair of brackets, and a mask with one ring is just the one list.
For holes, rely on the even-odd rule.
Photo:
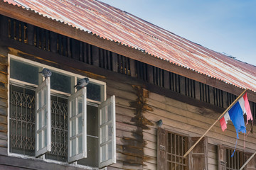
{"label": "middle open white window shutter, between the other two white shutters", "polygon": [[87,157],[86,87],[68,97],[68,162]]}

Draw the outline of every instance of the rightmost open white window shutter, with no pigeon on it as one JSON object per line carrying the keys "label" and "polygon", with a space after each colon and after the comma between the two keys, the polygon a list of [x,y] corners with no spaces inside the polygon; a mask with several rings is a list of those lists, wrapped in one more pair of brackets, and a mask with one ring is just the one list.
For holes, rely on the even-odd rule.
{"label": "rightmost open white window shutter, with no pigeon on it", "polygon": [[99,166],[116,163],[115,96],[99,106]]}

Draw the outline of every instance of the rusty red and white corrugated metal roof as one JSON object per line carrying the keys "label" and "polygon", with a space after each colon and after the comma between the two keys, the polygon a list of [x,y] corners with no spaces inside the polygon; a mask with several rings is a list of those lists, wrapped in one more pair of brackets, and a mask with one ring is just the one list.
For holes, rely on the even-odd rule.
{"label": "rusty red and white corrugated metal roof", "polygon": [[4,0],[154,57],[256,92],[256,67],[96,0]]}

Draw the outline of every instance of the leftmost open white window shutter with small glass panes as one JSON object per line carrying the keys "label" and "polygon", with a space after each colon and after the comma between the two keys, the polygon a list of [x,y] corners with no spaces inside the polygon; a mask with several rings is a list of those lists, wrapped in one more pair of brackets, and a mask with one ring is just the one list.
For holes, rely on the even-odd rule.
{"label": "leftmost open white window shutter with small glass panes", "polygon": [[50,78],[36,88],[36,157],[50,152]]}

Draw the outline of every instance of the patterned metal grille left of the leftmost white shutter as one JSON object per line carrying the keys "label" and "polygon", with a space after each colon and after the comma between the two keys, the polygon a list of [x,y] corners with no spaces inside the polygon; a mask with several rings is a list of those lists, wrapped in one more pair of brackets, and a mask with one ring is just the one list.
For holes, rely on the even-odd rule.
{"label": "patterned metal grille left of the leftmost white shutter", "polygon": [[35,91],[10,86],[10,152],[35,155]]}

